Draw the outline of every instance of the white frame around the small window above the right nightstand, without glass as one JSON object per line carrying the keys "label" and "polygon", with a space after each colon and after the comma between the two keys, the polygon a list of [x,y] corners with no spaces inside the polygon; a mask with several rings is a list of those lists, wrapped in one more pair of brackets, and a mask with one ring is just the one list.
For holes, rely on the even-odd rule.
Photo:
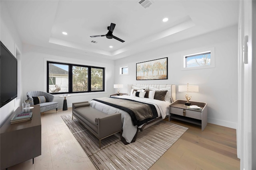
{"label": "white frame around the small window above the right nightstand, without glass", "polygon": [[[211,63],[209,65],[198,65],[198,66],[193,66],[193,67],[186,67],[186,59],[188,57],[193,57],[196,55],[202,55],[210,53],[210,60]],[[182,58],[182,70],[196,70],[196,69],[204,69],[204,68],[214,68],[215,67],[215,49],[214,47],[204,49],[204,50],[198,50],[198,51],[193,51],[193,52],[186,52],[181,55]]]}

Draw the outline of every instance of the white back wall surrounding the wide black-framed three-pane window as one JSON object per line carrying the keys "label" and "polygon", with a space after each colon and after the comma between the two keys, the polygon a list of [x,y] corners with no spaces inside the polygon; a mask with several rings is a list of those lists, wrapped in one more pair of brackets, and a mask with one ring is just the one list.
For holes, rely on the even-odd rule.
{"label": "white back wall surrounding the wide black-framed three-pane window", "polygon": [[[93,98],[107,97],[114,93],[114,61],[108,59],[98,59],[97,57],[80,55],[66,51],[48,49],[34,45],[23,44],[22,53],[22,100],[26,100],[28,91],[46,92],[46,61],[56,61],[61,63],[81,64],[88,66],[99,66],[105,68],[105,92],[90,92],[80,94],[70,94],[66,98],[68,107],[72,107],[73,102],[90,101]],[[99,62],[100,61],[100,62]],[[59,102],[59,109],[62,109],[63,99],[60,94],[54,95],[54,101]]]}

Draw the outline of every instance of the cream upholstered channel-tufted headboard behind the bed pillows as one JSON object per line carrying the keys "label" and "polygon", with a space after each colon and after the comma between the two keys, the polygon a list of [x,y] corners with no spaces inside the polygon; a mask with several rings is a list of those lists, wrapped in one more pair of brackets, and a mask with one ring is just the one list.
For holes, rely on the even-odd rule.
{"label": "cream upholstered channel-tufted headboard behind the bed pillows", "polygon": [[132,86],[135,86],[137,88],[142,88],[142,87],[152,87],[152,88],[157,88],[159,90],[165,89],[165,88],[170,88],[171,89],[171,102],[174,102],[176,100],[176,85],[175,84],[128,84],[127,90],[128,94],[130,95],[130,92],[132,90]]}

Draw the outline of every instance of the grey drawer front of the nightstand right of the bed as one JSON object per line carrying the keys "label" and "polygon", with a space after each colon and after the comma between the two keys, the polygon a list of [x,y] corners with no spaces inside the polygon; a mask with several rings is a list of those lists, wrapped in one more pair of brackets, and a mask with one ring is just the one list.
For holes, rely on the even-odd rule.
{"label": "grey drawer front of the nightstand right of the bed", "polygon": [[202,120],[202,112],[170,107],[170,113]]}

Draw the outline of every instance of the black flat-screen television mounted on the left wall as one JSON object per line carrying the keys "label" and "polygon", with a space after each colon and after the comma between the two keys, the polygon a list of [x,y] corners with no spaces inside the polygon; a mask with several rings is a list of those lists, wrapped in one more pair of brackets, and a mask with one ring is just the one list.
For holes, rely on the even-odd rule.
{"label": "black flat-screen television mounted on the left wall", "polygon": [[17,97],[17,59],[0,43],[0,102],[3,107]]}

